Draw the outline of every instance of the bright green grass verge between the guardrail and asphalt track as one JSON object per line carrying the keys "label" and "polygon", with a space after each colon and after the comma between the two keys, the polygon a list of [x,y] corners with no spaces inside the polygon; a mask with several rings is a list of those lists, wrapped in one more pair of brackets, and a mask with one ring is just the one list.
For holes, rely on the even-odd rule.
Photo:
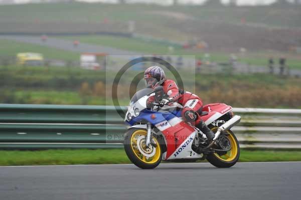
{"label": "bright green grass verge between the guardrail and asphalt track", "polygon": [[[130,163],[123,149],[0,150],[0,154],[0,165]],[[301,161],[301,151],[241,150],[239,161]]]}

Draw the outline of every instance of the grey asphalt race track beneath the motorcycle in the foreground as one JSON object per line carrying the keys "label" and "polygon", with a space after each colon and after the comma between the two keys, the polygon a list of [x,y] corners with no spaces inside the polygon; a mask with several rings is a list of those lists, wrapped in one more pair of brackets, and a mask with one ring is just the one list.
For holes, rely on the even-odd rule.
{"label": "grey asphalt race track beneath the motorcycle in the foreground", "polygon": [[0,167],[0,199],[300,199],[301,162]]}

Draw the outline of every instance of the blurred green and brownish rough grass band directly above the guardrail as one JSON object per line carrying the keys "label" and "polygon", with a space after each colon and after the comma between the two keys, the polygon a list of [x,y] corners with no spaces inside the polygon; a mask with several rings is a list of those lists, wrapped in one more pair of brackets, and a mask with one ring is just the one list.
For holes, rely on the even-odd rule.
{"label": "blurred green and brownish rough grass band directly above the guardrail", "polygon": [[[136,71],[122,76],[118,86],[118,100],[128,105],[129,85]],[[196,74],[195,85],[191,74],[180,72],[185,89],[199,95],[205,104],[224,102],[234,107],[300,108],[301,79],[268,74],[214,75]],[[169,75],[167,75],[169,76]],[[216,76],[219,76],[216,79]],[[25,104],[80,104],[112,105],[111,85],[115,73],[55,67],[0,67],[0,102]],[[97,82],[107,85],[98,86]],[[83,83],[88,83],[84,93]],[[263,90],[262,85],[265,86]],[[139,85],[139,88],[143,84]],[[96,88],[96,89],[95,89]],[[81,91],[81,92],[80,92]],[[105,91],[99,93],[96,91]],[[260,92],[260,95],[258,96]],[[263,96],[261,96],[263,95]],[[260,102],[260,104],[259,104]]]}

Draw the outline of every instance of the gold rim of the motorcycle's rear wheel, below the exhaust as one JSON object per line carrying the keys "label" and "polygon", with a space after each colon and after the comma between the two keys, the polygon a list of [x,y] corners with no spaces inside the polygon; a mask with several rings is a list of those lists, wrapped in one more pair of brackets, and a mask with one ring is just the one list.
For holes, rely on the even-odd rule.
{"label": "gold rim of the motorcycle's rear wheel, below the exhaust", "polygon": [[[217,127],[212,129],[213,132],[215,132],[216,130],[217,130]],[[216,152],[214,152],[213,154],[215,155],[215,157],[217,157],[220,160],[230,162],[230,161],[233,161],[237,156],[238,145],[237,145],[237,142],[236,142],[234,136],[231,134],[231,132],[227,131],[227,133],[228,133],[228,135],[225,135],[225,136],[229,139],[229,141],[231,143],[231,149],[229,151],[227,151],[227,153],[224,155],[219,155]]]}

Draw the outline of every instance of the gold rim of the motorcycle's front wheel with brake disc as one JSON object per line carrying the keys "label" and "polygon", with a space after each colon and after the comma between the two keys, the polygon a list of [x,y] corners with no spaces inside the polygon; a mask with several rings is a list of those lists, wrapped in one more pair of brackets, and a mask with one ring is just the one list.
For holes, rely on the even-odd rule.
{"label": "gold rim of the motorcycle's front wheel with brake disc", "polygon": [[[146,130],[141,129],[141,130],[134,131],[130,137],[130,147],[131,147],[131,150],[134,152],[135,156],[139,160],[141,160],[142,162],[147,163],[147,164],[153,164],[160,159],[161,147],[160,147],[160,144],[159,144],[157,138],[155,138],[155,137],[153,137],[153,140],[155,141],[155,144],[157,145],[156,147],[152,146],[152,147],[147,148],[145,145],[145,142],[143,142],[143,140],[141,142],[137,142],[139,137],[146,138],[146,135],[147,135]],[[151,155],[153,151],[156,151],[156,152],[153,156],[149,156],[149,157],[145,156],[139,151],[137,145],[140,145],[140,149],[142,149],[144,151],[144,154]]]}

